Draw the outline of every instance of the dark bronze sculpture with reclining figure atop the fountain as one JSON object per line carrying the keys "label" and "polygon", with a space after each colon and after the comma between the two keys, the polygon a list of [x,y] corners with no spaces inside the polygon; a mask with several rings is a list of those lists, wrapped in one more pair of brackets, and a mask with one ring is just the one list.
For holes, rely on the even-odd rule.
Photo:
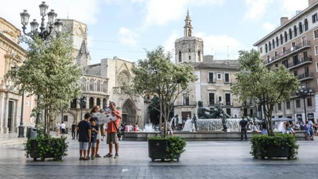
{"label": "dark bronze sculpture with reclining figure atop the fountain", "polygon": [[[226,118],[230,118],[230,116],[223,111],[221,103],[216,105],[216,109],[217,110],[205,109],[203,107],[203,102],[202,101],[198,101],[198,106],[199,106],[199,108],[197,110],[197,113],[198,113],[198,118],[199,119],[221,118],[222,119],[222,125],[223,125],[222,131],[227,131],[227,126],[226,126],[227,120],[226,120]],[[210,112],[210,114],[206,114],[205,112]]]}

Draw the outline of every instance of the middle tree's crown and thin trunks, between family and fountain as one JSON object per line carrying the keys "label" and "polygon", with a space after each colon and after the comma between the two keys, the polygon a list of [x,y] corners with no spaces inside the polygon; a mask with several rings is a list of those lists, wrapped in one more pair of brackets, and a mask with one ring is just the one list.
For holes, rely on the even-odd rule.
{"label": "middle tree's crown and thin trunks, between family and fountain", "polygon": [[164,137],[167,130],[169,113],[173,103],[180,93],[188,93],[190,82],[197,80],[194,69],[190,65],[177,65],[171,62],[171,53],[164,53],[164,48],[159,46],[154,50],[146,50],[146,59],[139,60],[132,68],[134,78],[132,84],[124,84],[121,89],[130,95],[140,95],[145,99],[145,94],[156,94],[159,98],[159,108],[149,105],[160,112],[159,118],[165,123]]}

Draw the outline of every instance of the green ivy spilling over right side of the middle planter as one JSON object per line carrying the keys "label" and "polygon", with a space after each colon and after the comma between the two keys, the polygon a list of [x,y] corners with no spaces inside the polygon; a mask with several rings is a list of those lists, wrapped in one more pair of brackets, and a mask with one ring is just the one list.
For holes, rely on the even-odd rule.
{"label": "green ivy spilling over right side of the middle planter", "polygon": [[179,136],[174,136],[174,137],[169,136],[166,138],[155,136],[155,137],[149,137],[149,139],[153,139],[153,140],[167,139],[167,147],[166,147],[167,154],[165,159],[169,159],[170,162],[173,162],[176,155],[182,154],[185,151],[184,147],[187,145],[184,138]]}

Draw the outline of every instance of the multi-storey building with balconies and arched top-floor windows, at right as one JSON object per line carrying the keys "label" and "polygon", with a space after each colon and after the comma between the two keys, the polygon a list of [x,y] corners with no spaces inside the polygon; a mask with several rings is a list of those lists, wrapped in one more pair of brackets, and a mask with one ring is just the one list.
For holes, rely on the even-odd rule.
{"label": "multi-storey building with balconies and arched top-floor windows, at right", "polygon": [[256,42],[269,70],[284,65],[298,81],[312,88],[305,99],[292,93],[291,99],[275,105],[273,118],[291,118],[295,122],[318,118],[318,1],[308,0],[308,8],[297,11],[291,19],[280,18],[280,26]]}

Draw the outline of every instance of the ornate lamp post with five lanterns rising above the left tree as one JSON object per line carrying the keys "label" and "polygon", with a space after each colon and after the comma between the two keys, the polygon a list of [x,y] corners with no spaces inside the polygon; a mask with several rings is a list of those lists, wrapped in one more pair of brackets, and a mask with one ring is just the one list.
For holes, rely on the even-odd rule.
{"label": "ornate lamp post with five lanterns rising above the left tree", "polygon": [[[20,13],[21,16],[21,24],[23,33],[24,35],[27,35],[31,37],[33,40],[35,39],[35,35],[38,35],[43,41],[49,40],[49,36],[52,34],[53,29],[55,30],[56,33],[61,32],[62,30],[62,22],[55,22],[57,14],[54,12],[54,10],[51,10],[50,12],[47,13],[47,9],[49,8],[48,5],[45,4],[45,1],[42,1],[42,4],[39,5],[40,8],[40,15],[42,16],[42,22],[41,22],[41,27],[40,31],[38,31],[38,26],[39,23],[36,21],[36,19],[33,19],[32,22],[30,22],[31,26],[31,31],[29,33],[25,32],[26,25],[28,25],[30,14],[27,12],[27,10],[23,10],[24,12]],[[48,24],[49,24],[49,31],[45,29],[45,16],[48,16]],[[37,103],[39,104],[39,101],[41,99],[41,94],[38,94],[38,101]],[[36,119],[36,127],[38,124],[42,123],[42,113],[41,110],[37,114],[37,119]]]}

